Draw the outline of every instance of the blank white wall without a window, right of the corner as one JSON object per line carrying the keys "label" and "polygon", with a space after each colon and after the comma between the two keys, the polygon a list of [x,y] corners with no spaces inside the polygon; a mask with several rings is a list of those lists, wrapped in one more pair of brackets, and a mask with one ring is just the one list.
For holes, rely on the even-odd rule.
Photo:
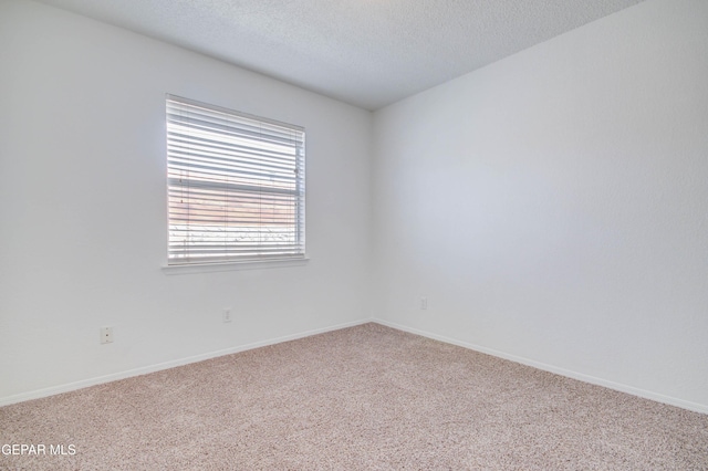
{"label": "blank white wall without a window, right of the corner", "polygon": [[708,2],[641,3],[374,130],[379,318],[708,411]]}

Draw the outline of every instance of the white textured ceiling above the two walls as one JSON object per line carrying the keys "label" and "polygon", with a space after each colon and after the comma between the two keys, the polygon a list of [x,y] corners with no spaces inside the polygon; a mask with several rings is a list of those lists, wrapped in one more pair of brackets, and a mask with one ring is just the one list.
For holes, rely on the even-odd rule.
{"label": "white textured ceiling above the two walls", "polygon": [[643,0],[42,0],[377,109]]}

